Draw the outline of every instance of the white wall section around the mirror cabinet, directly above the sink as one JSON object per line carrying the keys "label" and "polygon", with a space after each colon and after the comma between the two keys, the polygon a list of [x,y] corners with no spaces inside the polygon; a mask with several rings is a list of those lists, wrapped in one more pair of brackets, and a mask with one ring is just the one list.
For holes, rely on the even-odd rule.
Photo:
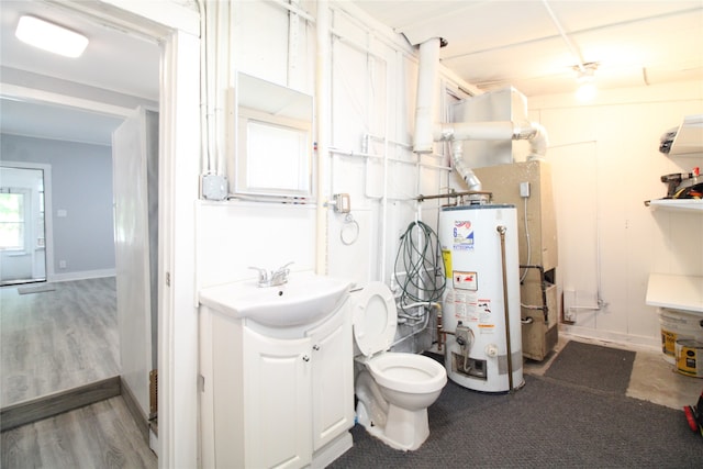
{"label": "white wall section around the mirror cabinet, directly above the sink", "polygon": [[[220,96],[224,97],[226,87],[235,85],[236,71],[312,94],[313,25],[300,21],[292,47],[294,54],[291,54],[295,57],[294,63],[289,64],[288,10],[266,2],[232,2],[231,8],[234,9],[230,23],[234,41],[226,54],[231,60],[231,76],[219,90]],[[260,21],[261,18],[266,21]],[[226,44],[226,41],[222,43]],[[233,138],[232,132],[233,127],[230,127],[228,139]],[[234,164],[231,150],[223,153],[228,165]],[[271,270],[293,261],[293,270],[314,269],[314,204],[293,206],[241,200],[197,202],[198,286],[255,278],[256,273],[249,270],[252,266]]]}

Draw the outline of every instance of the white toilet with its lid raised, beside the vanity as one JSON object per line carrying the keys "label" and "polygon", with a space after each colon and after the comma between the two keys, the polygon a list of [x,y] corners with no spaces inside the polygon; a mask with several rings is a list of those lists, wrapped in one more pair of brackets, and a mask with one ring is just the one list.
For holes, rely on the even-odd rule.
{"label": "white toilet with its lid raised, beside the vanity", "polygon": [[372,282],[352,292],[358,422],[387,445],[413,450],[427,439],[427,407],[447,383],[442,364],[424,355],[391,353],[398,315],[390,289]]}

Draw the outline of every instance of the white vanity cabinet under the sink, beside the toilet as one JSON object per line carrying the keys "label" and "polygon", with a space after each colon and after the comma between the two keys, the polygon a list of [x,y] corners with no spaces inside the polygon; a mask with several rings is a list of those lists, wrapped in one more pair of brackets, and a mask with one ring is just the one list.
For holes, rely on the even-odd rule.
{"label": "white vanity cabinet under the sink, beside the toilet", "polygon": [[352,447],[348,303],[284,328],[200,306],[203,467],[322,468]]}

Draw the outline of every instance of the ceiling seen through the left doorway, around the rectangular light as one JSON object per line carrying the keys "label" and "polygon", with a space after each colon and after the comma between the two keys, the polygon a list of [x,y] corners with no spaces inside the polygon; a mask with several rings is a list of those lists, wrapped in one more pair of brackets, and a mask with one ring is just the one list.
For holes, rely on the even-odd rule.
{"label": "ceiling seen through the left doorway, around the rectangular light", "polygon": [[[22,14],[78,31],[90,43],[78,58],[34,48],[14,36]],[[110,112],[111,107],[133,109],[158,103],[160,51],[155,42],[96,24],[60,5],[42,1],[0,0],[0,26],[2,132],[110,145],[112,131],[122,122]],[[15,87],[42,92],[32,93],[30,99],[16,99]],[[51,93],[51,104],[42,99],[46,93]],[[75,99],[55,100],[56,94],[108,105],[93,108]],[[97,111],[87,112],[86,105]]]}

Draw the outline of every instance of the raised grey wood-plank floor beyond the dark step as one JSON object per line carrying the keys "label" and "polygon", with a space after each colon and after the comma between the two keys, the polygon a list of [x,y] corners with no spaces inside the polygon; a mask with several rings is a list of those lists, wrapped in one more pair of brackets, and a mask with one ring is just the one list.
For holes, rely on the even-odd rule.
{"label": "raised grey wood-plank floor beyond the dark step", "polygon": [[0,289],[0,406],[120,375],[114,277]]}

